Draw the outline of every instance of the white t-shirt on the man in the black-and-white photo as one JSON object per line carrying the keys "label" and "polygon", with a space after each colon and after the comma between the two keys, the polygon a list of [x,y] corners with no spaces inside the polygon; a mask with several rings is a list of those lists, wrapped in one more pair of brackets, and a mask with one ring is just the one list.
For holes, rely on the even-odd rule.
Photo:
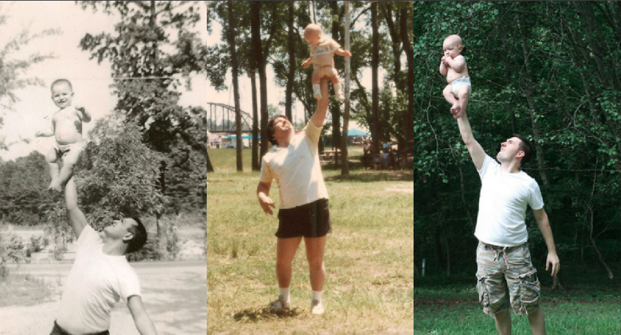
{"label": "white t-shirt on the man in the black-and-white photo", "polygon": [[141,295],[138,276],[127,258],[104,254],[102,247],[99,234],[86,225],[77,241],[57,318],[59,326],[71,334],[109,329],[114,303]]}

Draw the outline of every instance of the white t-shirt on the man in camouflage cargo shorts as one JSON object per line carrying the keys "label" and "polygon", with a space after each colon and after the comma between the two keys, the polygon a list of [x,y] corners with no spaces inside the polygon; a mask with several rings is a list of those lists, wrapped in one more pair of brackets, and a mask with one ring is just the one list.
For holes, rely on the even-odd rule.
{"label": "white t-shirt on the man in camouflage cargo shorts", "polygon": [[500,164],[485,156],[479,171],[481,195],[474,235],[479,241],[501,247],[514,247],[528,241],[527,205],[543,208],[543,199],[535,179],[520,171],[500,170]]}

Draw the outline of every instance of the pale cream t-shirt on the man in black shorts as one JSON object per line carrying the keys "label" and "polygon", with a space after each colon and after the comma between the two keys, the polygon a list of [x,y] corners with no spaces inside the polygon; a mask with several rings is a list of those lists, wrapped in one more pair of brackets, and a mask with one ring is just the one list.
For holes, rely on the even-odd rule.
{"label": "pale cream t-shirt on the man in black shorts", "polygon": [[320,133],[321,128],[309,121],[300,134],[293,136],[289,147],[274,147],[263,156],[259,180],[271,183],[276,179],[281,198],[279,208],[328,199],[317,152]]}

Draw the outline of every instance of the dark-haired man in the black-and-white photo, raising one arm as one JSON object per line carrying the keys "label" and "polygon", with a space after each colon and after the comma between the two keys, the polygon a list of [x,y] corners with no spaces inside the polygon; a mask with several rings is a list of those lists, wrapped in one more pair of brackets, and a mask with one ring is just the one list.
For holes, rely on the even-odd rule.
{"label": "dark-haired man in the black-and-white photo, raising one arm", "polygon": [[147,241],[144,225],[137,218],[115,220],[103,230],[103,241],[78,208],[73,178],[65,185],[65,207],[77,238],[76,259],[50,335],[110,334],[110,312],[119,298],[127,301],[140,334],[156,334],[142,303],[138,276],[125,258]]}

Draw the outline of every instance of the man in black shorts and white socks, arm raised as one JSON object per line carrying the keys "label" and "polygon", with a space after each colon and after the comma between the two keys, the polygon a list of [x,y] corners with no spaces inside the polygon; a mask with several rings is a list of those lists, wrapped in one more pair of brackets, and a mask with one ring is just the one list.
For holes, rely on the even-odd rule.
{"label": "man in black shorts and white socks, arm raised", "polygon": [[323,314],[321,300],[325,282],[323,255],[330,225],[328,194],[321,174],[318,142],[328,108],[327,83],[321,83],[322,98],[309,123],[295,134],[286,116],[278,115],[267,123],[267,139],[273,149],[263,156],[256,187],[258,201],[265,214],[275,208],[269,189],[276,179],[281,203],[276,231],[276,277],[278,299],[270,305],[274,312],[289,309],[292,261],[302,238],[306,246],[312,287],[312,314]]}

